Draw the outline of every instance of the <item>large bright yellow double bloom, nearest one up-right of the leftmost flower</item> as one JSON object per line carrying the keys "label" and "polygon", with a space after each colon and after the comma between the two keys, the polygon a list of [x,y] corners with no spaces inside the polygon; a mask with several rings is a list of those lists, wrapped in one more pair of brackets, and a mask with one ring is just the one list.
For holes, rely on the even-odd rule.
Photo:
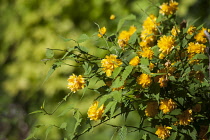
{"label": "large bright yellow double bloom, nearest one up-right of the leftmost flower", "polygon": [[122,65],[122,61],[121,59],[117,59],[117,55],[111,54],[110,56],[106,56],[106,59],[101,60],[101,64],[106,75],[109,77],[115,68]]}

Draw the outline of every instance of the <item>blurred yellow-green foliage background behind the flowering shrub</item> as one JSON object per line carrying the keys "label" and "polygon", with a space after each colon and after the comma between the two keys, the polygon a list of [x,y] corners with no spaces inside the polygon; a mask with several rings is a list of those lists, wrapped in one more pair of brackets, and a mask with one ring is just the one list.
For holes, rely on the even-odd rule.
{"label": "blurred yellow-green foliage background behind the flowering shrub", "polygon": [[[92,100],[98,93],[87,91],[71,96],[62,104],[53,116],[30,112],[40,109],[43,101],[46,109],[52,111],[57,103],[69,92],[67,78],[78,73],[74,68],[63,65],[43,83],[52,63],[46,64],[46,48],[66,49],[74,42],[65,42],[60,36],[77,40],[81,34],[96,35],[98,25],[106,26],[108,34],[116,33],[118,21],[130,14],[137,17],[139,24],[146,14],[158,14],[154,4],[163,0],[1,0],[0,1],[0,140],[23,140],[34,133],[37,125],[43,124],[32,139],[45,139],[46,129],[50,124],[60,125],[66,122],[67,129],[51,129],[47,139],[61,140],[68,137],[75,120],[72,112],[57,117],[62,110],[74,105],[86,113]],[[210,28],[209,0],[178,1],[180,22],[197,20]],[[110,20],[111,14],[116,15]],[[83,43],[89,47],[96,45],[96,40]],[[94,51],[95,50],[91,50]],[[95,52],[96,53],[96,52]],[[59,56],[58,56],[59,57]],[[59,112],[60,111],[60,112]],[[135,124],[135,114],[130,115],[128,123]],[[123,118],[111,121],[119,123]],[[80,139],[107,140],[115,139],[115,129],[103,125]],[[131,133],[129,139],[138,139]]]}

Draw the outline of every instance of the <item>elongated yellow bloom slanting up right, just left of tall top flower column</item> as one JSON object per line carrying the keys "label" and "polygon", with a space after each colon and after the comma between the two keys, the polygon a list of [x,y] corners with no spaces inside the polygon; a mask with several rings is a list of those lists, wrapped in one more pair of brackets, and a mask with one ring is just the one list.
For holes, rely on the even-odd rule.
{"label": "elongated yellow bloom slanting up right, just left of tall top flower column", "polygon": [[119,46],[124,49],[124,47],[128,44],[128,41],[130,39],[130,37],[133,35],[133,33],[136,32],[136,27],[135,26],[131,26],[129,31],[122,31],[120,32],[119,36],[118,36],[118,41],[117,43],[119,44]]}

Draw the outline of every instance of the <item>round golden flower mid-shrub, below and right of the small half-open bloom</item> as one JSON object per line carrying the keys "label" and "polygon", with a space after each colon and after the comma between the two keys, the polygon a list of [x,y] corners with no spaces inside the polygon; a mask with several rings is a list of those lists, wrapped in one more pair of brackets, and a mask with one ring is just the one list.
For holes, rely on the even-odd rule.
{"label": "round golden flower mid-shrub, below and right of the small half-open bloom", "polygon": [[141,85],[143,88],[146,88],[148,86],[150,86],[150,84],[152,83],[152,80],[150,78],[150,76],[148,74],[141,74],[138,78],[137,78],[137,83],[139,85]]}

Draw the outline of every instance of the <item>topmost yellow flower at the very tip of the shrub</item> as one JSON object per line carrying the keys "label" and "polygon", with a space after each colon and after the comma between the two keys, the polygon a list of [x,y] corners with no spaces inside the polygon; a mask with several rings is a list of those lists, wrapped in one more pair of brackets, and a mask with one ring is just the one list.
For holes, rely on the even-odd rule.
{"label": "topmost yellow flower at the very tip of the shrub", "polygon": [[160,14],[162,15],[172,15],[174,14],[178,9],[178,3],[171,0],[170,3],[163,3],[160,6]]}

